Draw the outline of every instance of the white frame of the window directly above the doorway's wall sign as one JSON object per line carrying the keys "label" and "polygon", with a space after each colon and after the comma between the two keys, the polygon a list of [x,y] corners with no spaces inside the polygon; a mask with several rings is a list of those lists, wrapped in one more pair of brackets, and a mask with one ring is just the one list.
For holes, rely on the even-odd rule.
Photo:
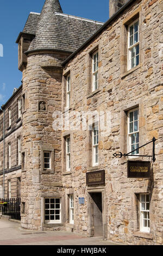
{"label": "white frame of the window directly above the doorway's wall sign", "polygon": [[[98,166],[98,143],[99,143],[99,128],[96,130],[95,128],[98,127],[98,123],[93,124],[92,126],[92,166]],[[97,156],[97,160],[96,160]]]}

